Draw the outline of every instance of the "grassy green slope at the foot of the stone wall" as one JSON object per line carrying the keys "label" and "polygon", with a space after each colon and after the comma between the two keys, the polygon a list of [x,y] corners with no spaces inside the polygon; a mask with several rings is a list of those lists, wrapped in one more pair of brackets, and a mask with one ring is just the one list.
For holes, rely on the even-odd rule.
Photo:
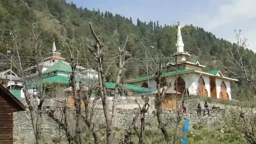
{"label": "grassy green slope at the foot of the stone wall", "polygon": [[[98,129],[100,135],[100,144],[106,144],[105,128]],[[176,136],[174,136],[176,134]],[[181,144],[182,128],[179,128],[177,133],[174,130],[169,130],[171,143],[173,139],[175,144]],[[124,136],[124,130],[115,128],[115,143],[121,144],[121,138]],[[88,139],[85,136],[88,144]],[[91,139],[92,141],[93,139]],[[129,144],[137,144],[139,141],[137,134],[133,134]],[[158,128],[148,128],[145,130],[145,141],[147,144],[166,144],[163,134]],[[52,138],[52,141],[45,144],[57,144],[58,138]],[[244,137],[239,134],[233,127],[219,127],[216,129],[208,129],[205,125],[193,125],[189,130],[188,144],[246,144]]]}

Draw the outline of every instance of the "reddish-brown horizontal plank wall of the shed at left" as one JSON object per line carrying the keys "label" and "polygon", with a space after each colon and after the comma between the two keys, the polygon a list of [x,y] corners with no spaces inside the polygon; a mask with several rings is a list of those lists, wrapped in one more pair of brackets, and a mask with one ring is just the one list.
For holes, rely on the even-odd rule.
{"label": "reddish-brown horizontal plank wall of the shed at left", "polygon": [[0,96],[0,143],[12,144],[13,143],[13,111],[12,108]]}

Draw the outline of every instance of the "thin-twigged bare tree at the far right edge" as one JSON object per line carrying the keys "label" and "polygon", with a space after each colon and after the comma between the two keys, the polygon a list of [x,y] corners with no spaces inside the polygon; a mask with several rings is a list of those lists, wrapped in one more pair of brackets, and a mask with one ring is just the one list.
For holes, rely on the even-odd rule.
{"label": "thin-twigged bare tree at the far right edge", "polygon": [[[256,81],[255,81],[255,64],[247,54],[249,50],[247,49],[246,41],[247,39],[241,39],[241,30],[238,32],[235,30],[236,34],[236,44],[227,47],[227,61],[226,63],[231,66],[226,66],[223,61],[219,60],[221,66],[229,71],[232,74],[232,77],[244,80],[254,91],[256,90]],[[249,95],[250,95],[249,92]],[[250,101],[254,97],[249,96]],[[234,126],[238,131],[244,134],[245,139],[254,144],[256,142],[256,115],[254,112],[254,105],[251,104],[251,107],[241,107],[241,111],[234,110],[232,111],[232,121]],[[244,112],[246,111],[246,112]]]}

